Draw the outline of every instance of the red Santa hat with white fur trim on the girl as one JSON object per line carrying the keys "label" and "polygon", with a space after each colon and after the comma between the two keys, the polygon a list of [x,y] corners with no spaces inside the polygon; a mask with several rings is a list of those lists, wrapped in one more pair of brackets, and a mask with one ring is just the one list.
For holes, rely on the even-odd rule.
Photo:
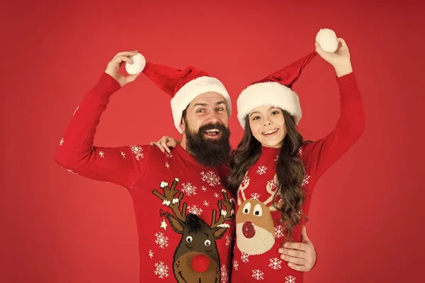
{"label": "red Santa hat with white fur trim on the girl", "polygon": [[245,118],[249,112],[267,105],[287,111],[293,116],[295,123],[300,122],[302,116],[300,99],[292,87],[302,70],[316,55],[317,52],[311,52],[282,70],[246,87],[237,99],[237,118],[242,128],[245,128]]}

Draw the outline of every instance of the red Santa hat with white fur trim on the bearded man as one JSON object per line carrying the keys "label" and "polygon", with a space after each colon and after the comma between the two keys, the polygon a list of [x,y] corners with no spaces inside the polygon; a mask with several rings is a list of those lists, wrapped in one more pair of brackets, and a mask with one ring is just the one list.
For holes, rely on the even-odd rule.
{"label": "red Santa hat with white fur trim on the bearded man", "polygon": [[203,70],[198,70],[193,66],[179,70],[145,62],[145,67],[140,72],[143,72],[159,89],[162,89],[172,97],[171,111],[173,113],[174,126],[176,126],[179,133],[183,133],[180,125],[184,109],[196,96],[205,92],[215,91],[221,94],[227,104],[227,114],[230,116],[232,113],[232,102],[225,86]]}

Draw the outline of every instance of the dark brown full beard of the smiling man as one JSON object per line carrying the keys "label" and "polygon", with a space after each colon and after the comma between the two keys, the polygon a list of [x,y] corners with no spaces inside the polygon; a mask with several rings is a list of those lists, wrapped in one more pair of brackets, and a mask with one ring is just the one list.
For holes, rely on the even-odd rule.
{"label": "dark brown full beard of the smiling man", "polygon": [[[205,138],[204,132],[214,128],[220,131],[220,138]],[[229,128],[221,123],[202,126],[196,133],[189,129],[186,122],[186,148],[200,165],[219,167],[227,164],[230,155],[229,136]]]}

